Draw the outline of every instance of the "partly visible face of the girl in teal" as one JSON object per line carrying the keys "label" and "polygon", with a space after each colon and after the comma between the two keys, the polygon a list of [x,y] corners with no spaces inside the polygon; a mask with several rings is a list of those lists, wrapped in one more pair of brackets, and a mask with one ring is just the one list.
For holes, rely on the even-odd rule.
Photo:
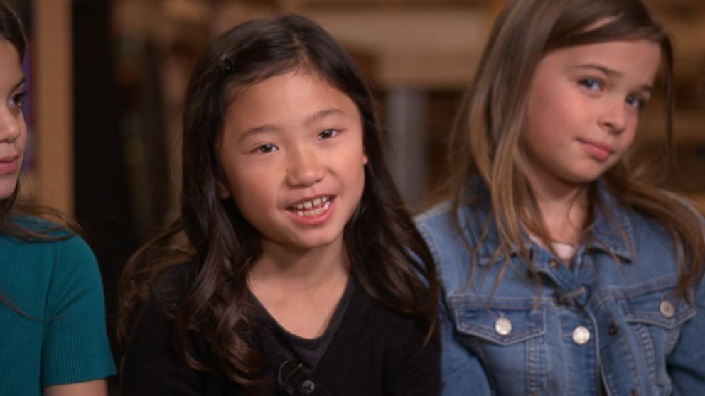
{"label": "partly visible face of the girl in teal", "polygon": [[15,190],[27,141],[20,99],[24,76],[16,48],[0,38],[0,199]]}

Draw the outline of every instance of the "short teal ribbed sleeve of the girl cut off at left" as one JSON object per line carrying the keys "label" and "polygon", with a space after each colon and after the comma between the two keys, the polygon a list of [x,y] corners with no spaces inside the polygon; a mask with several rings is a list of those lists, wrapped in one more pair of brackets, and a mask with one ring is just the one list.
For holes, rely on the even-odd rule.
{"label": "short teal ribbed sleeve of the girl cut off at left", "polygon": [[77,236],[55,242],[41,356],[41,386],[116,373],[105,328],[100,272]]}

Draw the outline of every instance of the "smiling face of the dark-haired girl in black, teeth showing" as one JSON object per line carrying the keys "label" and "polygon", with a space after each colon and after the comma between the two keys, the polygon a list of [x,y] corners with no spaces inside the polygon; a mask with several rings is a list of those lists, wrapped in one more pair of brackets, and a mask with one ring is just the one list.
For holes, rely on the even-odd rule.
{"label": "smiling face of the dark-haired girl in black, teeth showing", "polygon": [[227,108],[217,155],[219,196],[235,199],[265,253],[342,246],[367,163],[360,111],[343,92],[302,71],[247,87]]}

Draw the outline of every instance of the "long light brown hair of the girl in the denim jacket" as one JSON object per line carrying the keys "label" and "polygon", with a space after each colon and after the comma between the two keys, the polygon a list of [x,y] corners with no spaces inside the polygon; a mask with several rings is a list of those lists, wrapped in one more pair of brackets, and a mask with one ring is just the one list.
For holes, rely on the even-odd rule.
{"label": "long light brown hair of the girl in the denim jacket", "polygon": [[[444,185],[456,210],[467,204],[464,189],[470,178],[478,177],[487,187],[500,237],[495,253],[522,246],[522,226],[544,241],[550,239],[520,164],[520,133],[537,64],[559,48],[637,39],[650,40],[661,48],[664,140],[669,156],[673,146],[672,45],[642,1],[510,0],[498,16],[453,126],[450,177]],[[666,226],[680,269],[677,290],[685,293],[696,282],[705,258],[701,224],[693,220],[693,209],[682,199],[650,185],[640,174],[640,167],[626,157],[602,179],[620,204]],[[473,249],[469,244],[468,248]],[[533,270],[528,257],[524,258]]]}

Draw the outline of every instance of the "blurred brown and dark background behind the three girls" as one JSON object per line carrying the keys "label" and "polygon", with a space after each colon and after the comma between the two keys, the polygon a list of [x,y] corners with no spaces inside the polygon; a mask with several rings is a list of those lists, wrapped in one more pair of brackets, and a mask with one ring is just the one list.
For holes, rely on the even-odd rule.
{"label": "blurred brown and dark background behind the three girls", "polygon": [[[193,64],[215,35],[293,11],[321,23],[372,83],[394,135],[397,180],[414,208],[445,171],[453,114],[505,0],[6,0],[28,28],[21,180],[29,199],[73,214],[101,265],[108,326],[127,257],[176,216],[178,136]],[[646,0],[672,33],[676,145],[668,185],[705,203],[705,1]],[[663,148],[652,101],[638,155]],[[114,349],[116,358],[119,356]],[[117,392],[115,379],[112,391]]]}

